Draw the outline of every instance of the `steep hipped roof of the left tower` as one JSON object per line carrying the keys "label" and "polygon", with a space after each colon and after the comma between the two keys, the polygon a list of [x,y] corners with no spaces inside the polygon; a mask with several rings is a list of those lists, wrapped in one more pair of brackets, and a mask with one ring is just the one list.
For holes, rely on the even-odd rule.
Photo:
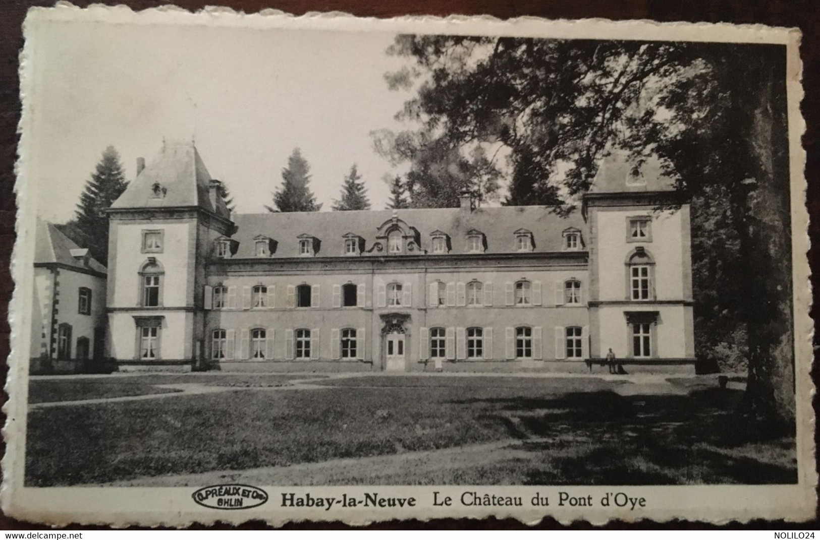
{"label": "steep hipped roof of the left tower", "polygon": [[[222,197],[216,206],[208,193],[211,175],[193,141],[164,141],[154,160],[128,184],[125,192],[112,204],[119,208],[170,208],[198,206],[217,216],[229,217],[230,211]],[[153,186],[164,188],[156,197]]]}

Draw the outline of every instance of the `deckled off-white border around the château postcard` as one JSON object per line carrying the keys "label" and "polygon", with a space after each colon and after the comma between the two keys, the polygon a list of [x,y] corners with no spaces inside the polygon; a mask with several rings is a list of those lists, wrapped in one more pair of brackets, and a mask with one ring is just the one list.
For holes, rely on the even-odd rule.
{"label": "deckled off-white border around the ch\u00e2teau postcard", "polygon": [[[797,449],[799,455],[799,484],[797,486],[630,486],[625,491],[644,494],[655,501],[661,498],[667,503],[663,509],[652,509],[640,514],[622,513],[601,509],[539,509],[488,510],[479,508],[469,513],[458,506],[449,509],[421,507],[413,511],[392,511],[376,515],[371,509],[359,511],[285,511],[276,505],[276,497],[283,489],[264,487],[271,501],[265,506],[248,511],[206,511],[191,502],[192,488],[24,488],[23,465],[25,452],[25,415],[27,402],[27,375],[29,362],[31,309],[30,291],[33,274],[30,261],[34,259],[34,216],[38,186],[30,175],[32,164],[26,162],[27,149],[33,144],[30,132],[31,107],[37,102],[37,88],[33,84],[36,65],[30,59],[37,57],[36,46],[31,37],[32,28],[44,21],[103,21],[121,25],[207,25],[246,29],[311,29],[345,32],[389,32],[419,34],[501,34],[508,36],[532,36],[565,39],[642,39],[658,41],[701,41],[722,43],[781,43],[787,47],[787,89],[790,134],[790,182],[792,212],[792,260],[794,265],[795,302],[795,356],[797,385]],[[817,473],[813,454],[813,409],[811,396],[813,383],[809,369],[813,358],[811,336],[812,320],[809,318],[811,290],[809,286],[809,216],[805,206],[804,164],[805,152],[800,144],[805,124],[799,114],[799,102],[803,98],[800,87],[802,64],[798,47],[798,29],[772,28],[764,25],[729,25],[708,23],[658,23],[648,20],[611,21],[544,20],[536,17],[519,17],[499,20],[490,16],[406,16],[392,19],[357,18],[345,13],[310,12],[304,16],[291,16],[282,11],[263,10],[252,15],[238,13],[228,7],[206,7],[192,13],[180,7],[164,6],[134,12],[130,7],[106,7],[94,4],[80,9],[67,2],[56,7],[32,7],[25,20],[24,34],[27,38],[21,52],[21,100],[22,118],[19,126],[21,143],[16,163],[17,240],[11,263],[11,275],[16,288],[10,305],[11,356],[6,390],[10,400],[3,410],[7,424],[3,435],[7,440],[7,453],[2,459],[4,472],[0,500],[7,515],[22,520],[54,525],[112,524],[124,527],[130,524],[146,526],[185,526],[194,522],[212,524],[217,521],[239,524],[247,520],[262,519],[269,524],[280,525],[292,520],[342,520],[348,524],[368,524],[375,520],[421,519],[443,517],[494,516],[499,519],[512,517],[526,524],[537,523],[544,515],[551,515],[563,524],[573,520],[587,520],[604,524],[611,519],[626,521],[651,520],[703,520],[726,523],[763,518],[769,520],[808,520],[813,517],[816,506],[815,486]],[[796,232],[796,234],[794,234]],[[801,286],[801,284],[804,284]],[[19,360],[18,360],[19,359]],[[292,488],[288,491],[317,492],[336,496],[342,492],[376,490],[387,493],[400,492],[403,496],[421,493],[421,500],[434,488],[399,487],[366,488],[348,486],[341,488]],[[441,492],[458,493],[467,490],[463,486],[444,486]],[[538,491],[557,492],[559,488],[492,486],[476,488],[479,491],[517,493]],[[565,491],[599,493],[611,491],[608,487],[563,487]],[[376,517],[374,517],[376,515]]]}

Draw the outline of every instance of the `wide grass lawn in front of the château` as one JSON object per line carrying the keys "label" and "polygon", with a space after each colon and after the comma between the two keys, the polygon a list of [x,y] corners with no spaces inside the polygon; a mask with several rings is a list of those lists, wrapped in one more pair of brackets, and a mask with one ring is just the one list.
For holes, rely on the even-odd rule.
{"label": "wide grass lawn in front of the ch\u00e2teau", "polygon": [[514,450],[446,468],[436,467],[435,459],[419,467],[408,461],[386,474],[339,483],[796,482],[793,439],[749,442],[748,433],[731,429],[738,390],[621,396],[611,383],[593,378],[325,383],[328,388],[317,390],[227,391],[30,411],[25,483],[106,483],[340,457],[412,457],[408,452],[480,442],[509,442]]}

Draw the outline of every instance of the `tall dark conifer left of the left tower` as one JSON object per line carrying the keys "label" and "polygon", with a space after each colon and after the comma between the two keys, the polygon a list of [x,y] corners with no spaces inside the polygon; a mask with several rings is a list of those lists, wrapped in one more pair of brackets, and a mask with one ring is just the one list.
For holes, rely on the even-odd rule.
{"label": "tall dark conifer left of the left tower", "polygon": [[[112,146],[103,151],[91,179],[85,184],[77,204],[75,227],[83,238],[88,239],[91,255],[103,264],[108,261],[107,209],[120,197],[128,186],[120,163],[120,154]],[[72,225],[66,224],[66,225]]]}

